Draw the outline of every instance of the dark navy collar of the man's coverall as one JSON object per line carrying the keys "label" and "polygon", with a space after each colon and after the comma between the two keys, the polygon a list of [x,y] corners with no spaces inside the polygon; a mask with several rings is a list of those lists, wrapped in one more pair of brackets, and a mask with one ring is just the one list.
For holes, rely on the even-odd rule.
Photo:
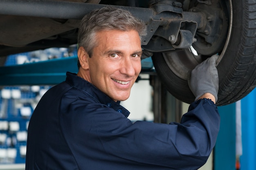
{"label": "dark navy collar of the man's coverall", "polygon": [[67,76],[66,82],[68,84],[83,90],[99,103],[104,104],[107,107],[112,107],[114,110],[124,114],[124,116],[126,117],[129,116],[130,112],[126,110],[126,108],[120,105],[120,101],[117,101],[117,102],[113,101],[105,93],[101,92],[97,87],[95,87],[92,83],[84,80],[79,76],[76,76],[75,73],[67,72],[66,76]]}

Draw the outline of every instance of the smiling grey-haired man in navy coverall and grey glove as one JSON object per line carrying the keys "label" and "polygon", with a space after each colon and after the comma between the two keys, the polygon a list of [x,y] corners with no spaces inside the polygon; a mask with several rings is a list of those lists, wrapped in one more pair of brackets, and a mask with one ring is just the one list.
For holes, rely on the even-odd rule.
{"label": "smiling grey-haired man in navy coverall and grey glove", "polygon": [[68,72],[34,110],[27,170],[196,170],[207,161],[220,123],[217,57],[192,71],[196,101],[181,123],[131,123],[119,102],[141,71],[145,34],[144,24],[122,9],[104,7],[83,18],[79,72]]}

